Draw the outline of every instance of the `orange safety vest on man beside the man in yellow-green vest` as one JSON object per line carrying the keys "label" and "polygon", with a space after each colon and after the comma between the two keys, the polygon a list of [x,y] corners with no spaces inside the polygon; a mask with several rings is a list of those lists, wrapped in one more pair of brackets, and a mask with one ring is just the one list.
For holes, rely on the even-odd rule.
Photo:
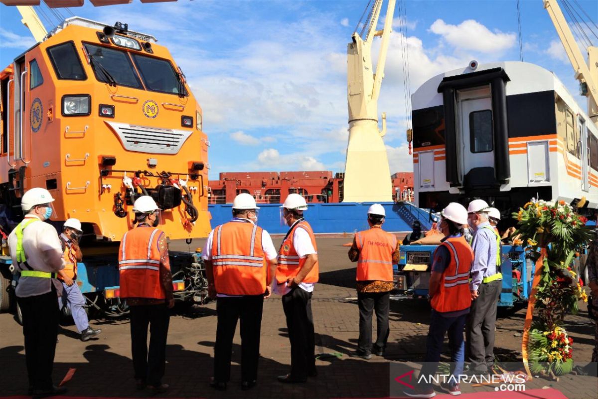
{"label": "orange safety vest on man beside the man in yellow-green vest", "polygon": [[450,263],[440,278],[438,292],[432,297],[432,308],[437,312],[467,309],[471,306],[469,273],[474,252],[463,236],[449,237],[440,246],[449,249]]}

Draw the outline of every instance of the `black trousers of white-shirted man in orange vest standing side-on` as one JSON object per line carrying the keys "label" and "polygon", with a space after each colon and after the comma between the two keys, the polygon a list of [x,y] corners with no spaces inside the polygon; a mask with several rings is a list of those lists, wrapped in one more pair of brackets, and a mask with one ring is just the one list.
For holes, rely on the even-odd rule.
{"label": "black trousers of white-shirted man in orange vest standing side-on", "polygon": [[304,380],[316,371],[312,293],[299,287],[293,288],[282,297],[282,309],[291,342],[291,378]]}

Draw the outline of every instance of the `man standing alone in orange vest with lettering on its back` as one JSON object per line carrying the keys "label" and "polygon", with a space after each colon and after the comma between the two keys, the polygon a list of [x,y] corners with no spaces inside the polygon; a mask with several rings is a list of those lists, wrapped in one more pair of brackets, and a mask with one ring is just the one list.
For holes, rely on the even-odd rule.
{"label": "man standing alone in orange vest with lettering on its back", "polygon": [[372,357],[372,313],[376,309],[378,335],[374,352],[383,356],[390,333],[388,314],[394,283],[392,265],[399,261],[399,245],[394,234],[382,230],[386,211],[375,203],[368,209],[370,230],[355,234],[349,259],[357,262],[357,303],[359,306],[358,349],[353,356]]}

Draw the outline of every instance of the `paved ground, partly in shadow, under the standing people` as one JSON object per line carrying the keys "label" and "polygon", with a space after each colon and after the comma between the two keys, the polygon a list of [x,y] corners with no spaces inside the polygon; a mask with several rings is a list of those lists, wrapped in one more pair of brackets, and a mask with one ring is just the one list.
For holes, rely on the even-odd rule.
{"label": "paved ground, partly in shadow, under the standing people", "polygon": [[[428,331],[429,307],[424,301],[396,299],[390,307],[390,338],[386,358],[370,361],[350,358],[356,349],[358,309],[354,289],[355,269],[347,260],[351,237],[319,239],[321,282],[313,297],[316,325],[316,352],[319,376],[305,385],[287,386],[276,382],[276,376],[289,370],[289,342],[279,297],[264,304],[261,360],[258,386],[252,391],[239,389],[240,337],[233,347],[232,381],[227,392],[215,392],[208,386],[212,375],[213,345],[216,331],[215,303],[170,320],[167,346],[167,368],[164,382],[172,386],[165,397],[246,397],[246,398],[365,398],[388,397],[389,362],[399,362],[401,370],[419,369],[414,364],[423,358]],[[277,244],[280,239],[275,239]],[[194,242],[193,247],[198,243]],[[175,242],[172,249],[187,249]],[[501,312],[497,325],[496,353],[502,361],[521,359],[521,330],[524,309]],[[375,323],[374,323],[375,324]],[[585,307],[577,316],[568,316],[567,327],[575,340],[576,363],[587,363],[593,346],[593,325]],[[126,320],[99,319],[93,327],[103,332],[96,340],[81,342],[71,324],[63,325],[57,345],[54,378],[58,382],[69,368],[76,368],[66,386],[69,395],[86,397],[144,397],[148,392],[136,391],[132,380],[129,324]],[[0,314],[0,394],[23,395],[26,389],[25,356],[21,328],[8,313]],[[416,373],[417,374],[417,373]],[[553,386],[568,398],[594,398],[598,386],[590,377],[566,376],[558,383],[534,379],[529,389]],[[590,388],[585,388],[585,387]],[[468,387],[471,391],[489,392],[495,386]],[[463,387],[462,387],[463,389]],[[464,389],[465,390],[465,389]],[[442,391],[438,389],[438,392]],[[483,398],[484,395],[479,396]]]}

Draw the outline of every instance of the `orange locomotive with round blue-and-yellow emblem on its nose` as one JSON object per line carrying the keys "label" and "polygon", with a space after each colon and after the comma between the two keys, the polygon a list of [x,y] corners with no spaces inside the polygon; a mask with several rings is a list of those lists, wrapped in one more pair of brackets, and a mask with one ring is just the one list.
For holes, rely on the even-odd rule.
{"label": "orange locomotive with round blue-and-yellow emblem on its nose", "polygon": [[118,241],[149,194],[169,239],[208,236],[202,109],[166,47],[126,24],[66,19],[0,72],[0,203],[22,218],[32,187],[56,198],[54,221]]}

